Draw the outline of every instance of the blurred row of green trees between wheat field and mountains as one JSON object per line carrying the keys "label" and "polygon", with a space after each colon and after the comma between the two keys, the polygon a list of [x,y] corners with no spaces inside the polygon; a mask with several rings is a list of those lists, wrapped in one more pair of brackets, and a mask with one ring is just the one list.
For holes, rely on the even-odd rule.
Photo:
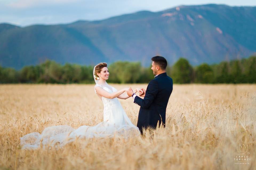
{"label": "blurred row of green trees between wheat field and mountains", "polygon": [[[0,83],[94,83],[93,67],[66,63],[61,65],[46,60],[36,66],[21,70],[0,66]],[[151,66],[140,62],[117,61],[108,66],[109,83],[148,83],[154,78]],[[191,66],[180,58],[173,66],[167,66],[167,74],[174,83],[256,83],[256,56],[208,65]]]}

